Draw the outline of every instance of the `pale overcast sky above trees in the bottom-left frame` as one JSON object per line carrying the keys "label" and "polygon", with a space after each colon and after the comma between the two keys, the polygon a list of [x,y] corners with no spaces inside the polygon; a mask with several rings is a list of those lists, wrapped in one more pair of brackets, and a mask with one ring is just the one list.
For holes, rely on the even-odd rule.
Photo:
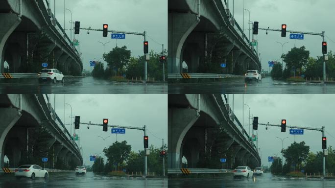
{"label": "pale overcast sky above trees in the bottom-left frame", "polygon": [[[51,104],[54,106],[54,95],[51,94]],[[108,118],[109,125],[147,127],[149,145],[162,146],[162,139],[168,142],[168,95],[166,94],[66,94],[66,103],[72,106],[72,116],[80,116],[80,122],[100,123],[103,118]],[[56,113],[64,122],[64,94],[56,95]],[[71,108],[66,105],[66,124],[70,121]],[[74,121],[74,120],[73,120]],[[72,122],[73,122],[72,121]],[[72,124],[72,126],[74,126]],[[70,133],[70,125],[66,125]],[[126,140],[131,145],[132,151],[138,152],[144,149],[141,130],[126,129],[126,134],[111,134],[103,132],[101,126],[80,125],[80,145],[84,153],[84,164],[90,162],[90,155],[99,154],[103,149],[103,140],[100,137],[108,137],[105,147],[113,142]],[[73,131],[72,131],[73,134]],[[157,137],[157,138],[156,138]],[[159,138],[159,139],[158,139]]]}

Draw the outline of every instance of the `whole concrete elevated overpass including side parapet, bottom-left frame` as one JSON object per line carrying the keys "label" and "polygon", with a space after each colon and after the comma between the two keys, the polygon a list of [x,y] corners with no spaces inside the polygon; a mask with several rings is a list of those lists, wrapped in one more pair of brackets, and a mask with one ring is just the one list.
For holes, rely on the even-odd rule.
{"label": "whole concrete elevated overpass including side parapet, bottom-left frame", "polygon": [[29,153],[48,157],[49,168],[58,160],[66,167],[83,163],[78,145],[71,141],[47,95],[0,94],[0,122],[0,167],[4,156],[9,167],[17,167]]}

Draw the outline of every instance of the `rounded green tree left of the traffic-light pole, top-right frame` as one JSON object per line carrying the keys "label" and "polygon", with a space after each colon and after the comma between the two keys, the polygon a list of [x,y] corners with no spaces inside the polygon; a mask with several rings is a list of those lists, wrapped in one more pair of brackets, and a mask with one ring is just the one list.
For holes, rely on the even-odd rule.
{"label": "rounded green tree left of the traffic-light pole, top-right frame", "polygon": [[294,69],[297,70],[299,74],[302,73],[310,57],[310,51],[305,49],[304,46],[300,48],[293,47],[287,54],[282,55],[288,70]]}

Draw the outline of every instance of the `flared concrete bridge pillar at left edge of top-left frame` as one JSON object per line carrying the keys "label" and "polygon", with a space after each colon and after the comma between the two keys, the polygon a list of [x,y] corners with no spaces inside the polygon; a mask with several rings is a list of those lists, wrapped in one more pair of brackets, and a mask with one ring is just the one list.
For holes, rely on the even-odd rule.
{"label": "flared concrete bridge pillar at left edge of top-left frame", "polygon": [[3,73],[3,62],[4,62],[4,46],[7,39],[21,23],[21,18],[17,14],[12,13],[0,13],[0,72]]}

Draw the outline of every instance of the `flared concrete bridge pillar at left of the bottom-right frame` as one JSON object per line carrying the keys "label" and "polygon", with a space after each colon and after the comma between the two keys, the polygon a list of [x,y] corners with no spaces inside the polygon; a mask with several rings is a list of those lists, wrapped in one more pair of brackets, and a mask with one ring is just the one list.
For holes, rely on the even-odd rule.
{"label": "flared concrete bridge pillar at left of the bottom-right frame", "polygon": [[181,145],[186,133],[194,122],[199,118],[199,114],[194,109],[168,109],[168,166],[169,168],[180,168]]}

